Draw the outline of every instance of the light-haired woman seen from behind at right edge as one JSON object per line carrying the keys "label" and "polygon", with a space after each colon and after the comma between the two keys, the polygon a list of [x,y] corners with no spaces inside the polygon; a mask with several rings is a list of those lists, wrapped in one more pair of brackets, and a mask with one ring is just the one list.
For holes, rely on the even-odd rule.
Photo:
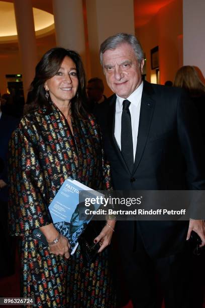
{"label": "light-haired woman seen from behind at right edge", "polygon": [[199,79],[194,66],[185,65],[180,67],[176,72],[173,86],[183,88],[189,93],[198,110],[199,126],[205,140],[205,85]]}

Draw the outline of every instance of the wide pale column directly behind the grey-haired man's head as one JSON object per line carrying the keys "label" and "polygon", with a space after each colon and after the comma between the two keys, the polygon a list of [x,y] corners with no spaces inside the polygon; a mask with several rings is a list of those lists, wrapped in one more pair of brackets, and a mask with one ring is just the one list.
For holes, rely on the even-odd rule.
{"label": "wide pale column directly behind the grey-haired man's head", "polygon": [[105,93],[112,94],[99,63],[100,44],[119,32],[135,34],[133,0],[86,0],[90,76],[104,80]]}

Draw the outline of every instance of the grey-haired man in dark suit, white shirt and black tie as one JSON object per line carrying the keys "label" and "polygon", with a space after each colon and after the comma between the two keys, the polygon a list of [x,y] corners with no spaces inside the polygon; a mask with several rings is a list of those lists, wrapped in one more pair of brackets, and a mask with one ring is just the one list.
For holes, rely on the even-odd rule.
{"label": "grey-haired man in dark suit, white shirt and black tie", "polygon": [[[143,51],[120,33],[100,46],[107,83],[115,93],[98,106],[105,153],[116,190],[204,190],[201,137],[194,110],[179,89],[142,82]],[[193,307],[187,241],[205,245],[202,220],[117,221],[120,256],[134,307],[157,305],[155,277],[165,307]]]}

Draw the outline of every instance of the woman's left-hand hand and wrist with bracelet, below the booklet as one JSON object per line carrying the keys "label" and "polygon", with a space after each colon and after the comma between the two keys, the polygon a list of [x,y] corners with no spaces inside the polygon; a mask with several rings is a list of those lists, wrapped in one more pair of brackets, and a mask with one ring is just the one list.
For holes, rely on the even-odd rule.
{"label": "woman's left-hand hand and wrist with bracelet, below the booklet", "polygon": [[[59,236],[59,233],[53,223],[41,226],[40,230],[46,237],[48,243],[53,242]],[[56,244],[49,244],[49,248],[51,253],[56,256],[65,256],[66,259],[70,257],[70,243],[68,242],[68,239],[62,235],[60,235],[60,239]]]}

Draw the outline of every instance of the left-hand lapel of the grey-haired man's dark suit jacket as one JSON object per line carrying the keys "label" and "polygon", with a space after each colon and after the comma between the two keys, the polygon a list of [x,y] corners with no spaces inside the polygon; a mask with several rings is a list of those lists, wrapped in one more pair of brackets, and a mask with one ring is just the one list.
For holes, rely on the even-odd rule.
{"label": "left-hand lapel of the grey-haired man's dark suit jacket", "polygon": [[114,95],[114,97],[112,98],[111,102],[110,102],[110,112],[109,112],[109,123],[110,123],[110,127],[111,127],[111,142],[113,143],[115,150],[117,152],[117,155],[119,156],[124,168],[129,172],[129,168],[122,156],[121,150],[118,146],[118,143],[116,141],[116,137],[115,137],[115,112],[116,112],[116,95]]}

